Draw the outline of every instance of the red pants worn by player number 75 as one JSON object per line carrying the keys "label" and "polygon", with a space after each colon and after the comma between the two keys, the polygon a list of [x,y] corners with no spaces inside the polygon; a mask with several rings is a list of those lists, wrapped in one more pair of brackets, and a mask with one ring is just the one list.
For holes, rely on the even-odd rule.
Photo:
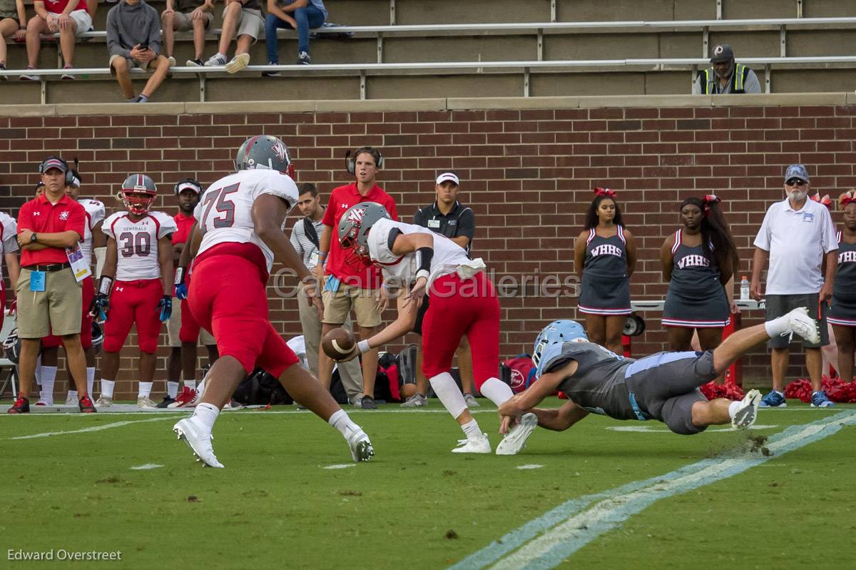
{"label": "red pants worn by player number 75", "polygon": [[247,374],[259,366],[278,378],[299,359],[268,320],[261,256],[253,244],[211,248],[193,262],[187,300],[193,318],[214,335],[221,357],[237,359]]}

